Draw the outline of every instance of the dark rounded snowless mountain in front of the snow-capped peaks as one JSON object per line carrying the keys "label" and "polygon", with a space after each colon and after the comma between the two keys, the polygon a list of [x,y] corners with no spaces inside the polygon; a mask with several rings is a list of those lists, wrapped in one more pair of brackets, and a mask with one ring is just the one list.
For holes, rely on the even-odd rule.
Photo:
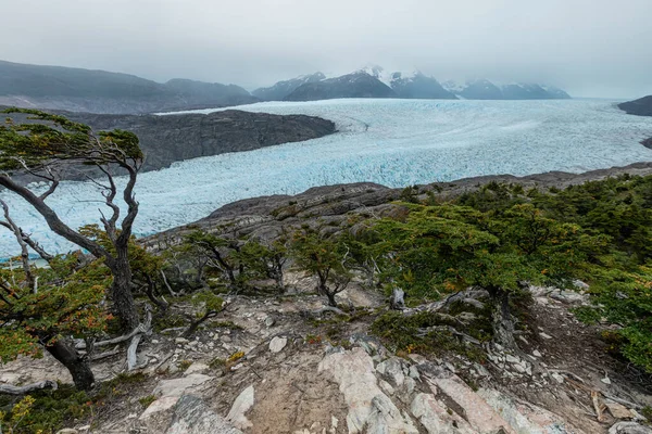
{"label": "dark rounded snowless mountain in front of the snow-capped peaks", "polygon": [[285,101],[315,101],[335,98],[396,98],[391,88],[376,77],[356,72],[299,86]]}

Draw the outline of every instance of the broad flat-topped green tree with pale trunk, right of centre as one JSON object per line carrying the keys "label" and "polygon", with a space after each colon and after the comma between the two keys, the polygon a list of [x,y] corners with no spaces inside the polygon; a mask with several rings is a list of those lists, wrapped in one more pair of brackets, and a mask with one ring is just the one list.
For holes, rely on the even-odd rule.
{"label": "broad flat-topped green tree with pale trunk, right of centre", "polygon": [[532,205],[504,213],[410,205],[405,221],[380,220],[384,272],[400,288],[438,299],[480,286],[493,302],[493,341],[517,349],[510,303],[528,283],[569,288],[588,252],[603,246],[577,225],[547,218]]}

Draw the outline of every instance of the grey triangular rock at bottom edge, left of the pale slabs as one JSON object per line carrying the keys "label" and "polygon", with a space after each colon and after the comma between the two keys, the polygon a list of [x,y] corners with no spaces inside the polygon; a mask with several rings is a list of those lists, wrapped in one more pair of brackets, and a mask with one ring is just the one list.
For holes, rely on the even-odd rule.
{"label": "grey triangular rock at bottom edge, left of the pale slabs", "polygon": [[216,414],[200,398],[184,395],[175,407],[172,423],[165,434],[242,434],[242,432]]}

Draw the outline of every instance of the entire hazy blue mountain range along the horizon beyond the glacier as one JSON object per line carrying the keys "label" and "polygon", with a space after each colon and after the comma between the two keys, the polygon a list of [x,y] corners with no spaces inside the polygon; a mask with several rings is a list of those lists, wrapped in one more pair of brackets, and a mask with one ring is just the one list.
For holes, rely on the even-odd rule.
{"label": "entire hazy blue mountain range along the horizon beyond the glacier", "polygon": [[223,107],[260,101],[336,98],[538,100],[567,99],[537,84],[498,86],[480,79],[440,84],[421,72],[365,67],[338,77],[303,75],[255,89],[175,78],[164,84],[129,74],[0,61],[0,104],[89,113],[134,114]]}

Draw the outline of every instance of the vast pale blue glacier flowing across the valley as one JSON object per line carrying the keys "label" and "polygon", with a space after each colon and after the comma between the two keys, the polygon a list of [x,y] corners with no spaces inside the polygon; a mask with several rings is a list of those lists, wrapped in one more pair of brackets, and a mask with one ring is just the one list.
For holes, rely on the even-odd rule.
{"label": "vast pale blue glacier flowing across the valley", "polygon": [[[237,108],[321,116],[334,120],[339,132],[141,174],[138,234],[198,220],[240,199],[294,194],[314,186],[373,181],[401,187],[652,161],[652,150],[639,143],[652,137],[652,117],[627,115],[611,101],[330,100]],[[46,248],[71,248],[20,197],[7,192],[0,197]],[[48,202],[64,221],[79,227],[99,222],[101,199],[93,184],[66,181]],[[1,231],[0,257],[17,252],[11,233]]]}

